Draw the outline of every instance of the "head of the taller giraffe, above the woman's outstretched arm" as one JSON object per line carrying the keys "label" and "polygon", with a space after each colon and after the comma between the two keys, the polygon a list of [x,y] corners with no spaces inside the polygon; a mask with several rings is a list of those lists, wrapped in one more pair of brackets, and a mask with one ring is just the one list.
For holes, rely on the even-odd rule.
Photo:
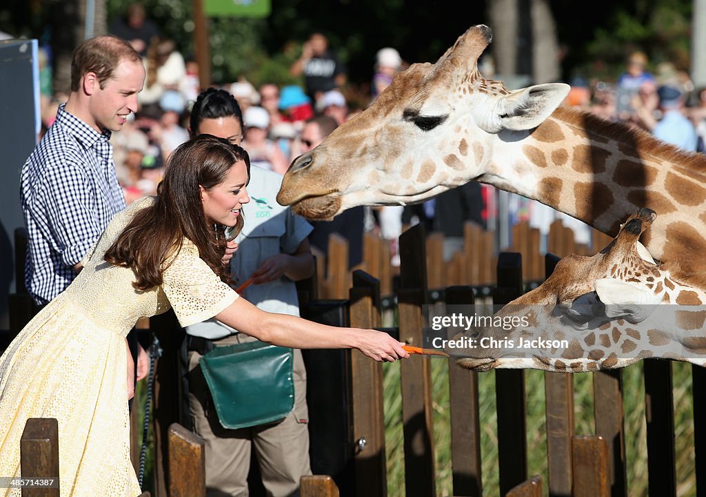
{"label": "head of the taller giraffe, above the woman's outstretched arm", "polygon": [[277,201],[311,219],[359,205],[412,204],[484,173],[492,136],[518,139],[561,104],[569,86],[510,91],[481,76],[491,41],[469,28],[436,64],[413,64],[356,117],[296,158]]}

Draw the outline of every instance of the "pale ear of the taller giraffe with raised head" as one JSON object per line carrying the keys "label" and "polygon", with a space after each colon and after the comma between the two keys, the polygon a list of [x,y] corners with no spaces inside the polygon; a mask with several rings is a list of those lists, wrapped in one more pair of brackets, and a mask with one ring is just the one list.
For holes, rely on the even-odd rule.
{"label": "pale ear of the taller giraffe with raised head", "polygon": [[566,83],[545,83],[505,95],[496,107],[501,127],[513,131],[536,128],[561,105],[570,89]]}

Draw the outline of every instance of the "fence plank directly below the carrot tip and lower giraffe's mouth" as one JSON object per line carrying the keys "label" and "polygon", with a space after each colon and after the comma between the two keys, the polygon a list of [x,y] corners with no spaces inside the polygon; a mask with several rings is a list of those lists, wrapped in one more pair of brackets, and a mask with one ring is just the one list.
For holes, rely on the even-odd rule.
{"label": "fence plank directly below the carrot tip and lower giraffe's mouth", "polygon": [[[473,305],[473,288],[446,288],[447,305]],[[449,330],[452,337],[454,330]],[[451,461],[453,495],[481,496],[481,428],[478,400],[478,373],[449,361]]]}

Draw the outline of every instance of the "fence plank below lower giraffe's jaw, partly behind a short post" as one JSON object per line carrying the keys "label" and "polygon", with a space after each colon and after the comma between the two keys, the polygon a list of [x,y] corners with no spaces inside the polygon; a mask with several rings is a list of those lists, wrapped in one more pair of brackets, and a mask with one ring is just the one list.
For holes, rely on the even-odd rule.
{"label": "fence plank below lower giraffe's jaw, partly behind a short post", "polygon": [[[607,445],[612,497],[624,497],[628,494],[622,378],[619,369],[593,373],[596,435],[603,438]],[[574,468],[574,480],[575,478]]]}

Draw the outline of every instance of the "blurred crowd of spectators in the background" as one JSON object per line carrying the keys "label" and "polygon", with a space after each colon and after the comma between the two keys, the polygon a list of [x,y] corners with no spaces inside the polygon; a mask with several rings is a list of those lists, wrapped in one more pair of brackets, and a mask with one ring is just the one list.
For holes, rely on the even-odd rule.
{"label": "blurred crowd of spectators in the background", "polygon": [[[126,17],[112,23],[111,30],[140,52],[147,74],[145,87],[138,96],[140,110],[131,115],[124,131],[112,136],[118,177],[129,204],[143,195],[155,194],[164,160],[189,137],[189,112],[201,88],[196,62],[184,57],[174,40],[159,32],[144,8],[131,7]],[[368,103],[377,98],[397,72],[407,67],[393,47],[382,47],[371,59],[373,78]],[[347,68],[323,33],[312,33],[289,71],[301,78],[301,84],[276,81],[253,84],[247,76],[241,76],[237,81],[214,85],[234,95],[243,111],[243,144],[252,163],[280,174],[306,151],[301,132],[310,119],[327,115],[340,125],[362,110],[359,95],[349,98],[352,94]],[[706,88],[695,88],[688,74],[678,71],[673,64],[650,65],[645,52],[632,52],[615,81],[577,77],[569,83],[566,105],[626,122],[689,151],[706,151]],[[66,96],[42,95],[43,129],[52,124],[56,109]],[[474,204],[462,221],[477,221],[487,226],[493,215],[494,192],[485,185],[479,189],[474,194],[480,195],[481,201]],[[515,199],[513,222],[528,219],[532,211],[541,210],[541,206],[532,204]],[[429,217],[435,210],[434,201],[409,209],[366,208],[364,229],[375,230],[393,240],[394,252],[405,224],[425,222],[432,229],[437,226]],[[448,234],[452,236],[455,232]],[[397,257],[394,259],[397,261]]]}

